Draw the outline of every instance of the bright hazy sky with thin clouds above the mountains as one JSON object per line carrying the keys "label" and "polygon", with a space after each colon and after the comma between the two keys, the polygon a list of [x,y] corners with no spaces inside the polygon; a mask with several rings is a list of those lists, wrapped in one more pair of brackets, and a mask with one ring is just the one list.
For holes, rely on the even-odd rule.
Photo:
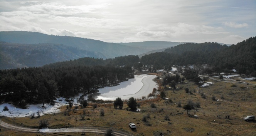
{"label": "bright hazy sky with thin clouds above the mountains", "polygon": [[256,36],[256,0],[0,0],[0,31],[106,42],[236,44]]}

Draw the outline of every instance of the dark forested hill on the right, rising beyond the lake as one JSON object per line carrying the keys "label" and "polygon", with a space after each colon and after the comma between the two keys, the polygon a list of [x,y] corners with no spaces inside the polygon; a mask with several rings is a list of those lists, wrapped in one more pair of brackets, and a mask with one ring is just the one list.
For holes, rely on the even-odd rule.
{"label": "dark forested hill on the right, rising beyond the lake", "polygon": [[239,74],[256,76],[256,37],[231,46],[218,43],[185,43],[163,52],[142,56],[141,63],[166,70],[170,70],[173,65],[207,64],[211,66],[211,70],[205,72],[228,73],[235,68]]}

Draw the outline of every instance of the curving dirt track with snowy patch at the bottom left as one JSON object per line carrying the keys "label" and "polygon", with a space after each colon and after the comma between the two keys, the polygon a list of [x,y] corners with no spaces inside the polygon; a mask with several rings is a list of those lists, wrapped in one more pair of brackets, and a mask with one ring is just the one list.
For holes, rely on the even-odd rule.
{"label": "curving dirt track with snowy patch at the bottom left", "polygon": [[[12,129],[19,132],[29,132],[29,133],[63,133],[63,132],[85,132],[85,133],[99,133],[99,134],[105,134],[106,131],[109,129],[107,127],[95,127],[95,126],[89,126],[89,127],[76,127],[76,128],[59,128],[59,129],[36,129],[36,128],[27,128],[23,126],[16,126],[13,124],[8,124],[3,122],[0,119],[0,126],[2,128],[6,129]],[[113,129],[113,128],[111,128]],[[132,136],[131,134],[128,134],[128,132],[120,131],[113,129],[113,134],[116,136]]]}

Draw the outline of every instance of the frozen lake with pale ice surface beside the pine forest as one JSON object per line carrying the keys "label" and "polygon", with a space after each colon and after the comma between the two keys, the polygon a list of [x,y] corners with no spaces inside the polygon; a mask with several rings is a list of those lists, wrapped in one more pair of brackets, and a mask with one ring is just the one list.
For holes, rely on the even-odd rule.
{"label": "frozen lake with pale ice surface beside the pine forest", "polygon": [[99,89],[100,95],[96,99],[115,100],[120,97],[128,100],[130,97],[141,98],[152,93],[157,84],[153,81],[155,75],[135,75],[135,78],[121,82],[118,86],[105,87]]}

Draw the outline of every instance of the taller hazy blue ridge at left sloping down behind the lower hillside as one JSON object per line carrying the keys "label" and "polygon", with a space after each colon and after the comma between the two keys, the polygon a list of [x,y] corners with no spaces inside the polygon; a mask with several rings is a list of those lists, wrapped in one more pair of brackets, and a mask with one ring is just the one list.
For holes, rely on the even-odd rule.
{"label": "taller hazy blue ridge at left sloping down behind the lower hillside", "polygon": [[[37,32],[26,31],[9,31],[0,32],[0,41],[8,43],[22,44],[38,44],[38,43],[54,43],[71,46],[81,50],[100,52],[107,58],[115,58],[116,56],[139,55],[145,53],[147,48],[138,48],[133,46],[120,45],[117,43],[107,43],[104,41],[79,38],[73,36],[56,36],[47,35]],[[90,56],[93,57],[93,56]]]}

